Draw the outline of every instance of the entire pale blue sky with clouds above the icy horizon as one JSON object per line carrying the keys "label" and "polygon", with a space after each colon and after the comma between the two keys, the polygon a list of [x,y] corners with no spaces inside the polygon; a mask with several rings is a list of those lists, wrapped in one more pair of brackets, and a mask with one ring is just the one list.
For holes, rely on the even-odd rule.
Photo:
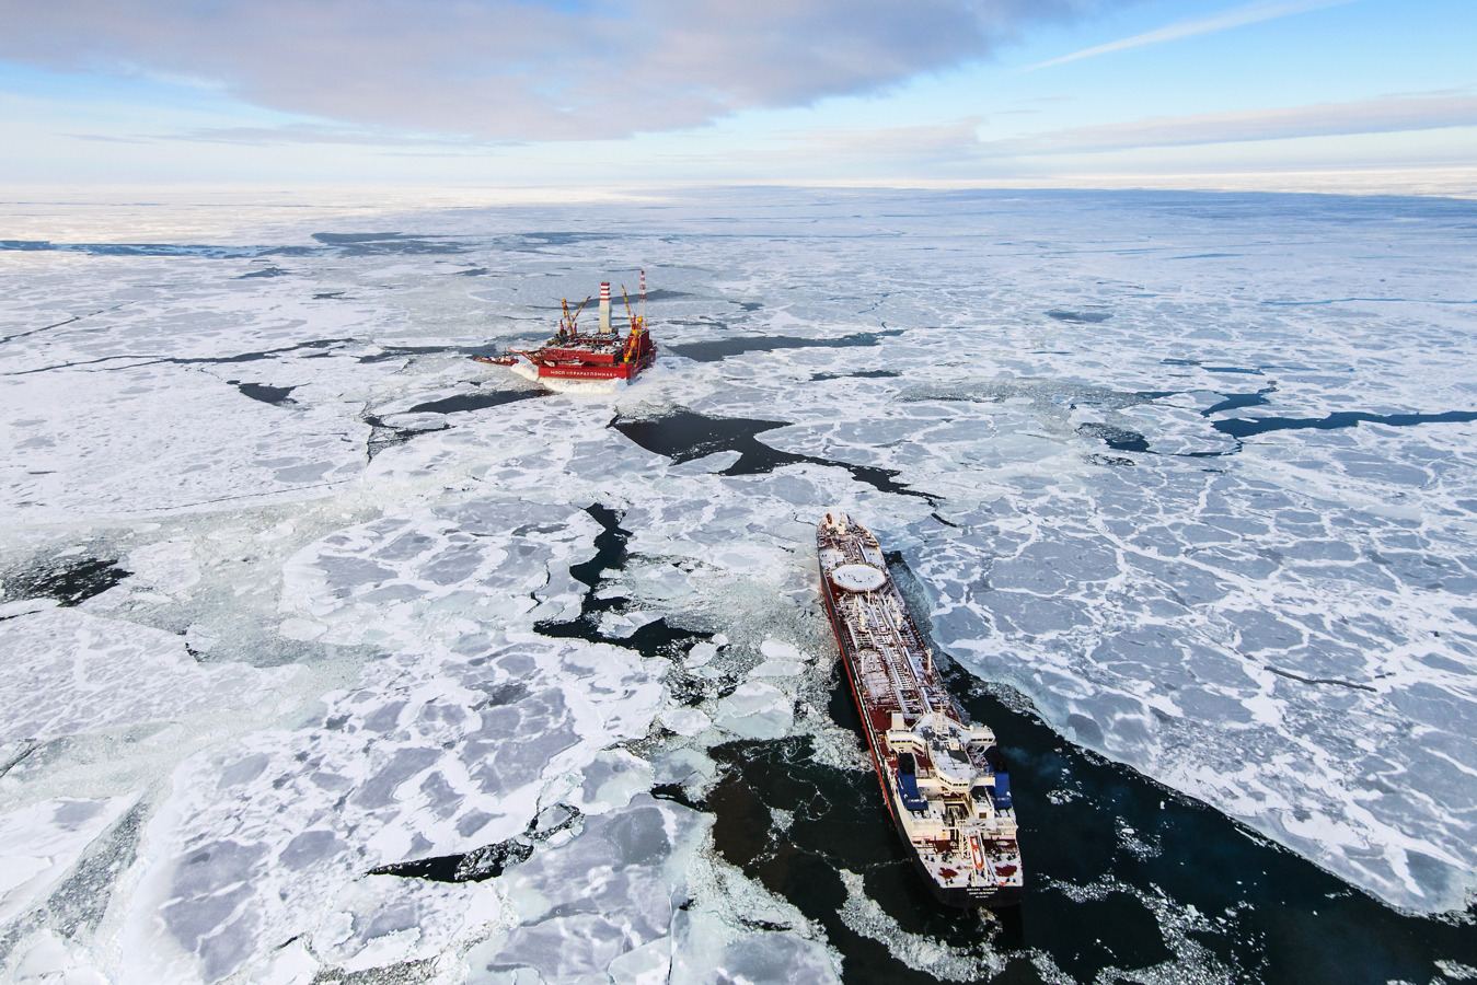
{"label": "entire pale blue sky with clouds above the icy horizon", "polygon": [[1477,195],[1477,0],[0,0],[0,182]]}

